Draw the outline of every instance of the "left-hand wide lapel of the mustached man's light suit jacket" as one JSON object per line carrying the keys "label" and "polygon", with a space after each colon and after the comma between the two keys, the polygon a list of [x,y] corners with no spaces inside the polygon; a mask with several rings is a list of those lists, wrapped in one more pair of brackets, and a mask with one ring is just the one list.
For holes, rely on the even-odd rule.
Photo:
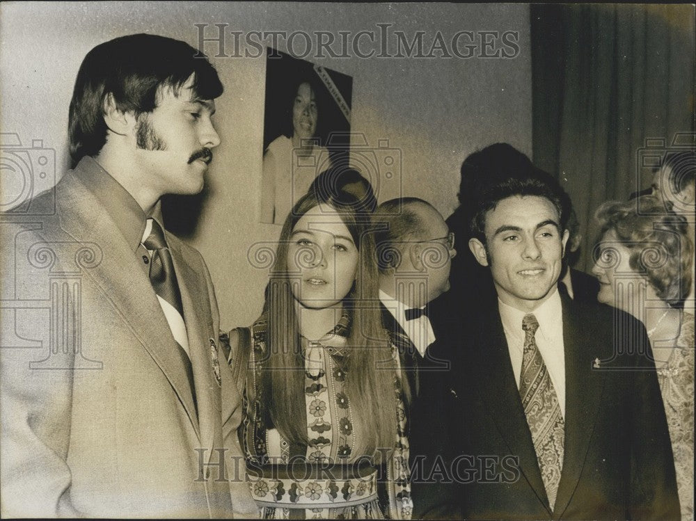
{"label": "left-hand wide lapel of the mustached man's light suit jacket", "polygon": [[102,249],[102,262],[84,269],[83,273],[95,280],[159,365],[187,411],[196,435],[200,436],[186,368],[172,354],[175,340],[150,280],[111,218],[98,211],[100,205],[90,191],[72,175],[65,179],[63,189],[72,193],[61,212],[63,230],[77,241],[93,242]]}

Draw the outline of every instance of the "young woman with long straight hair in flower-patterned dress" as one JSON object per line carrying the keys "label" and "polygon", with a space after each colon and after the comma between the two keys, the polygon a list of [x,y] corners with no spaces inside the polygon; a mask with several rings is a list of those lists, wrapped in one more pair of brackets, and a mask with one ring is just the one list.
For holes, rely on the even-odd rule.
{"label": "young woman with long straight hair in flower-patterned dress", "polygon": [[347,194],[301,198],[280,232],[261,316],[228,335],[247,397],[239,439],[263,519],[281,509],[291,519],[411,513],[407,384],[381,325],[362,208]]}

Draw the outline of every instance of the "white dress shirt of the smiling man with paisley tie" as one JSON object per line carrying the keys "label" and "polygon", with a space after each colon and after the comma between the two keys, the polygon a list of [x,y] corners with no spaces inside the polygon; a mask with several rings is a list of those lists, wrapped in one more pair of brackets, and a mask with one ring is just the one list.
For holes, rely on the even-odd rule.
{"label": "white dress shirt of the smiling man with paisley tie", "polygon": [[[498,299],[500,318],[503,319],[503,329],[510,353],[512,371],[519,389],[520,373],[522,372],[522,353],[524,349],[525,332],[522,330],[522,319],[528,312],[520,311]],[[558,289],[545,303],[534,312],[539,322],[535,340],[539,347],[541,358],[544,359],[548,375],[555,389],[561,415],[565,417],[565,352],[563,346],[563,312],[561,297]]]}

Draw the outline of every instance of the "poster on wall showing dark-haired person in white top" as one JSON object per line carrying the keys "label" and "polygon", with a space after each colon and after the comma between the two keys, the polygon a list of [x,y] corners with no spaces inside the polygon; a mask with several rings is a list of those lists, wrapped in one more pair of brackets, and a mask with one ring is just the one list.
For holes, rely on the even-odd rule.
{"label": "poster on wall showing dark-haired person in white top", "polygon": [[266,51],[260,222],[282,225],[319,173],[348,161],[353,79]]}

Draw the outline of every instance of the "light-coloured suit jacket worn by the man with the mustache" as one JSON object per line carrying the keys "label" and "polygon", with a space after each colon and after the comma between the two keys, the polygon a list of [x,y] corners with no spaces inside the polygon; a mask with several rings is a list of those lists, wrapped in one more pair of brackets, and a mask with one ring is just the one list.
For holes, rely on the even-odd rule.
{"label": "light-coloured suit jacket worn by the man with the mustache", "polygon": [[1,513],[255,516],[205,262],[166,235],[196,412],[141,260],[86,186],[95,164],[84,159],[1,223]]}

